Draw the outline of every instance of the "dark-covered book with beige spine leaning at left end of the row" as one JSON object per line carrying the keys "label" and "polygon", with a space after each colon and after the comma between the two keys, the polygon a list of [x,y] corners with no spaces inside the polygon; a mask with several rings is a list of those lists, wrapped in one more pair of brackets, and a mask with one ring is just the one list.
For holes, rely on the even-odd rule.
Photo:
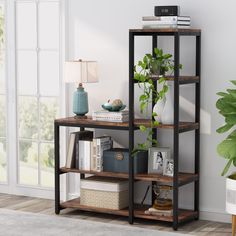
{"label": "dark-covered book with beige spine leaning at left end of the row", "polygon": [[69,145],[66,156],[66,168],[78,168],[79,164],[79,147],[78,140],[92,140],[92,131],[78,131],[70,133]]}

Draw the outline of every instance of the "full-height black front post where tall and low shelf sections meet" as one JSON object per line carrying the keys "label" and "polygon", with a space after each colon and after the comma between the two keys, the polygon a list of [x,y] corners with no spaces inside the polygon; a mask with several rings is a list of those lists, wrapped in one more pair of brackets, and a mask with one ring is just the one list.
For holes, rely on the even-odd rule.
{"label": "full-height black front post where tall and low shelf sections meet", "polygon": [[129,223],[134,222],[134,34],[129,33]]}

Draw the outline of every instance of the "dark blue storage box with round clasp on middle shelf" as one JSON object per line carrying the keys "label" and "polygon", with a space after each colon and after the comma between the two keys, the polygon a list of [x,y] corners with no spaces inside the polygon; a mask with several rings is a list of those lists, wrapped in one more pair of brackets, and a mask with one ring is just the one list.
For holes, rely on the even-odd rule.
{"label": "dark blue storage box with round clasp on middle shelf", "polygon": [[[139,151],[134,158],[134,174],[147,173],[148,152]],[[114,148],[103,152],[103,171],[129,172],[129,150]]]}

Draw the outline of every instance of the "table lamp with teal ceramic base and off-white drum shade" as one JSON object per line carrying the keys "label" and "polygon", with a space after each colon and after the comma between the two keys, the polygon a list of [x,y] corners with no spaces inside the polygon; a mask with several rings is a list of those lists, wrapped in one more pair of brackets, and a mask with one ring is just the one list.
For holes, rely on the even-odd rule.
{"label": "table lamp with teal ceramic base and off-white drum shade", "polygon": [[88,113],[88,93],[84,91],[83,83],[98,82],[96,61],[67,61],[65,62],[65,82],[77,83],[73,94],[73,112],[75,118],[86,119]]}

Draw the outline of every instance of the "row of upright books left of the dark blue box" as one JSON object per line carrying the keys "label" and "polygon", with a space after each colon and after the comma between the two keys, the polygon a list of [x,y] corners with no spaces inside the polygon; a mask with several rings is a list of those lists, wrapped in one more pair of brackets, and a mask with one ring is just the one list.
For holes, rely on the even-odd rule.
{"label": "row of upright books left of the dark blue box", "polygon": [[110,136],[93,138],[92,131],[70,133],[66,168],[103,171],[103,151],[113,147]]}

